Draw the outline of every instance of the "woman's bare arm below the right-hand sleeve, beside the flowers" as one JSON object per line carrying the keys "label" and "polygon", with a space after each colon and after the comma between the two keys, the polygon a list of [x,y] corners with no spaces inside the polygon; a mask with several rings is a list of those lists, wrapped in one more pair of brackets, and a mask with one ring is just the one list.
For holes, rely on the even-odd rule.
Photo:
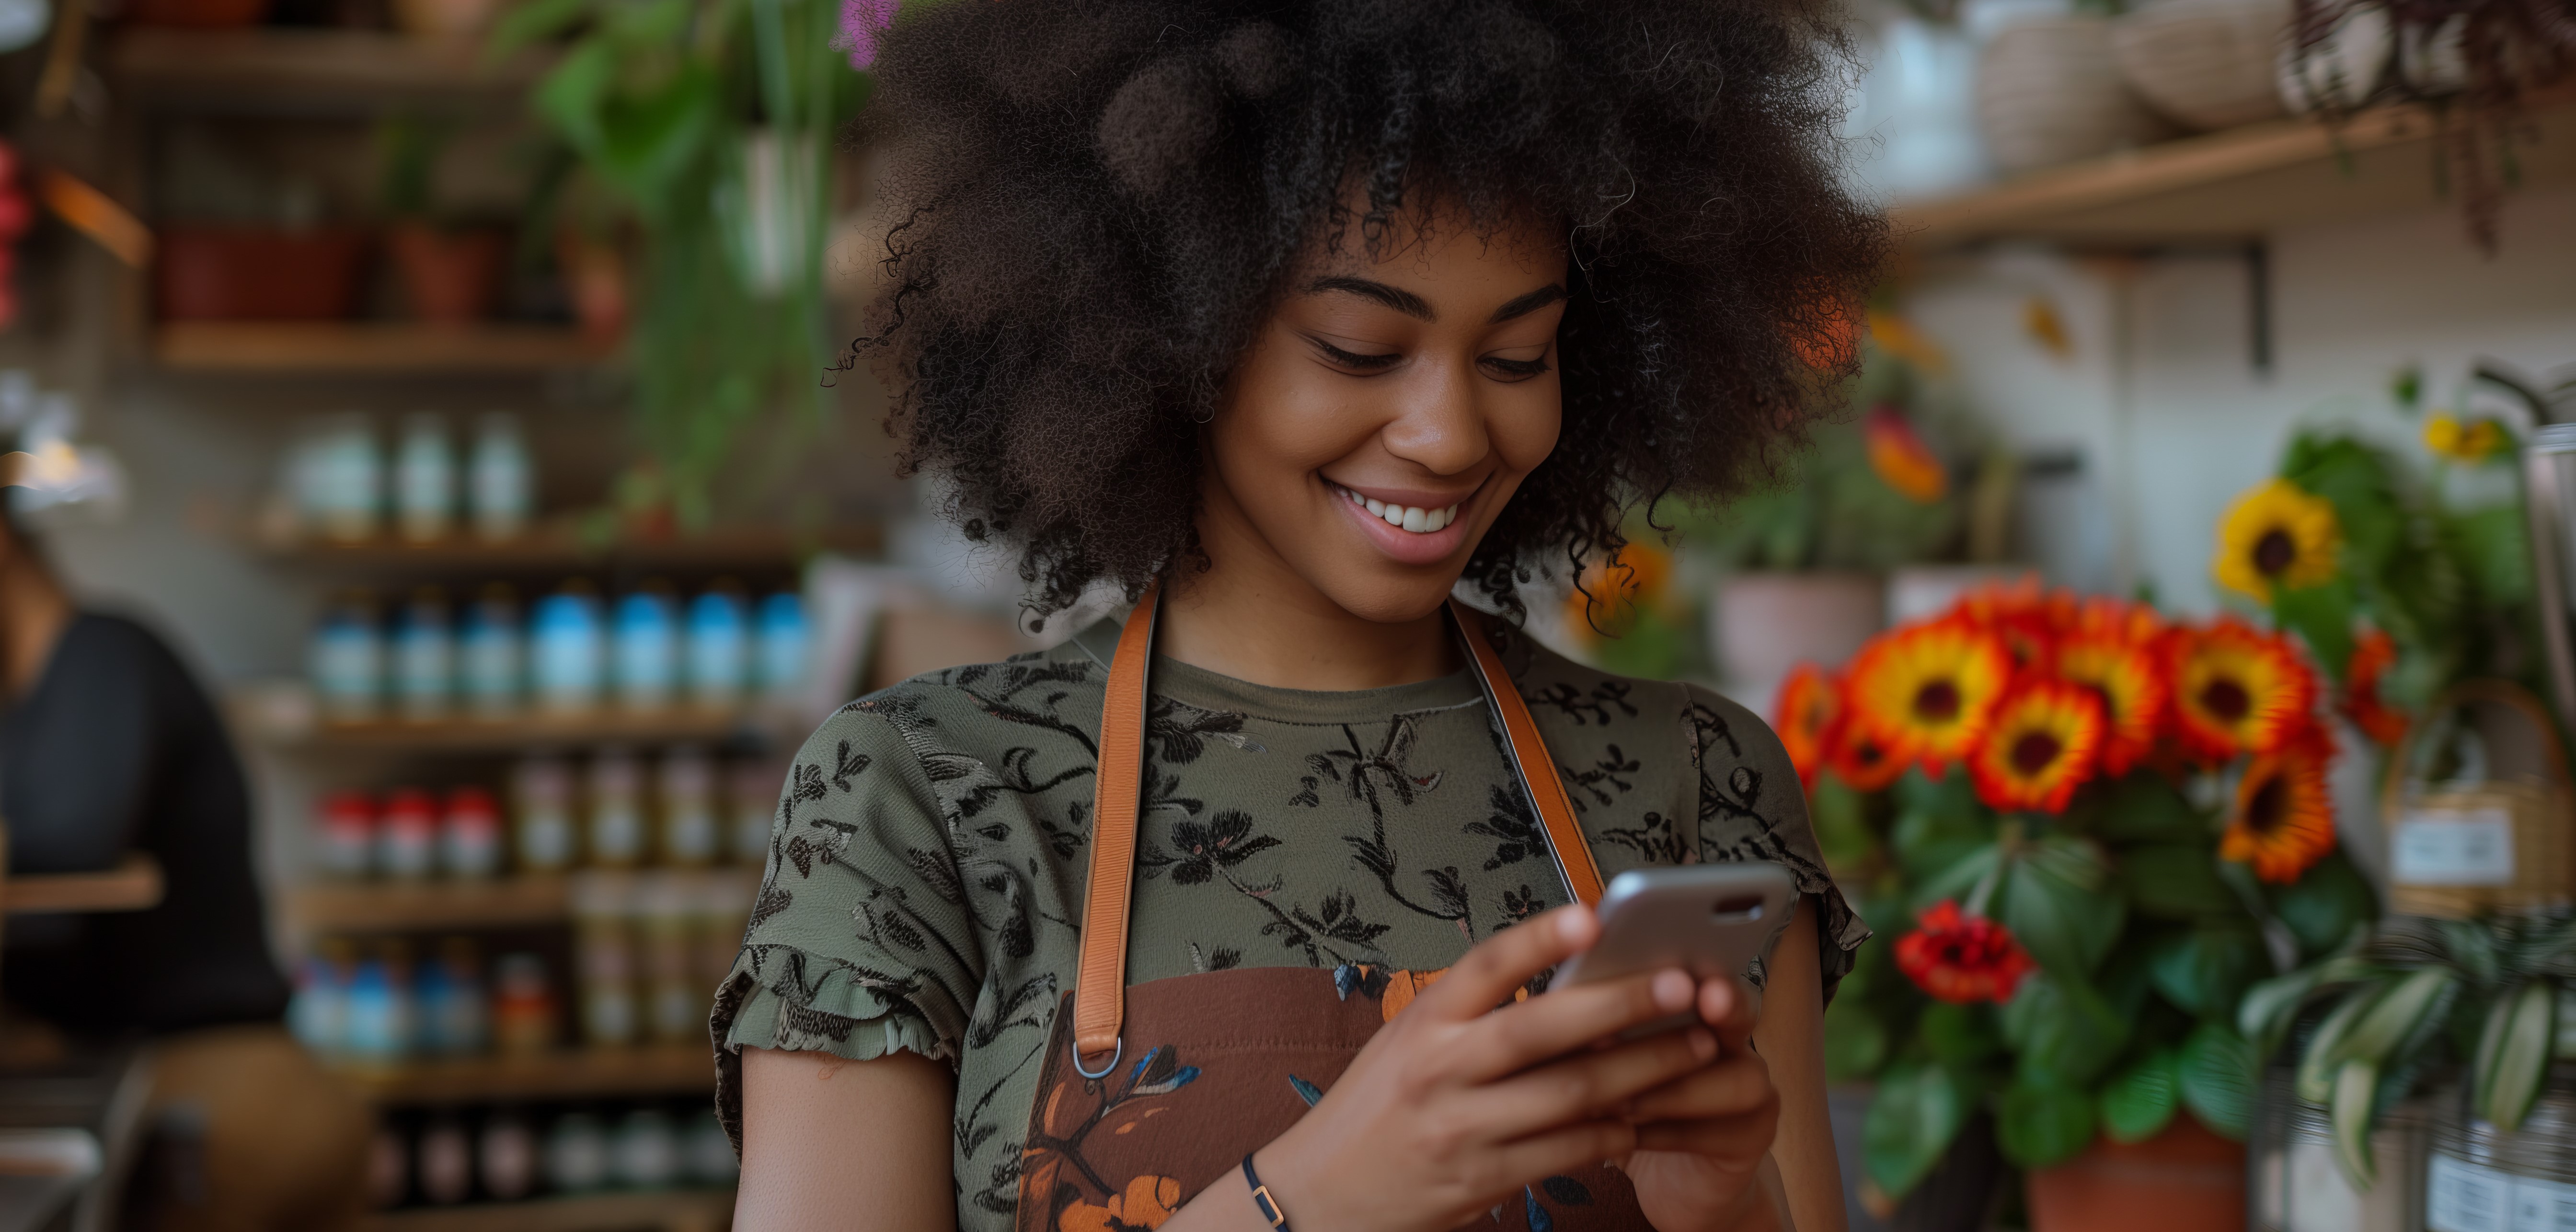
{"label": "woman's bare arm below the right-hand sleeve, beside the flowers", "polygon": [[1798,1232],[1842,1232],[1842,1165],[1834,1124],[1824,1111],[1824,977],[1816,969],[1816,902],[1801,902],[1767,964],[1754,1049],[1780,1090],[1780,1137],[1772,1162],[1788,1186]]}

